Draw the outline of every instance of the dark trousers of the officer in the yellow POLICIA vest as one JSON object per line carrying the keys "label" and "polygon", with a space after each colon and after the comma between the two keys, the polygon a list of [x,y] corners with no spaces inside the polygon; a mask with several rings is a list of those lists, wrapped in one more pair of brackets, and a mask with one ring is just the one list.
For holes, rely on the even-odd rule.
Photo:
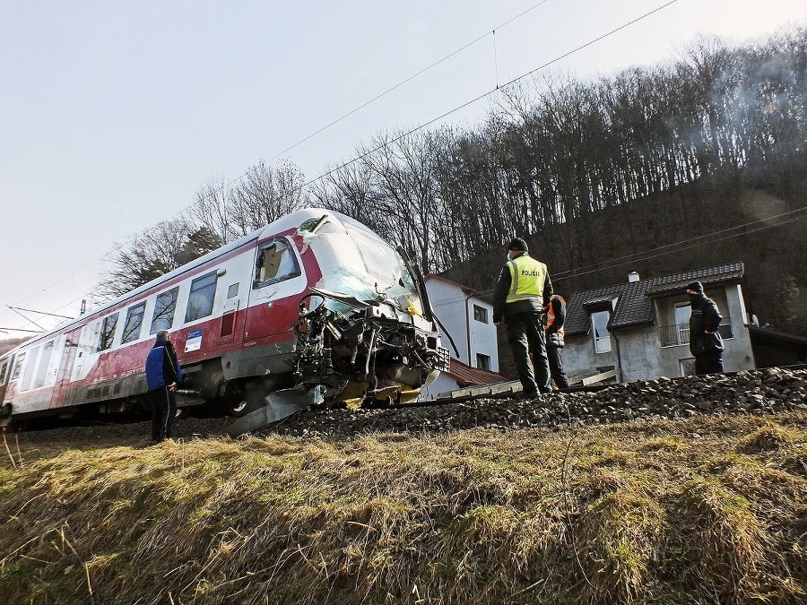
{"label": "dark trousers of the officer in the yellow POLICIA vest", "polygon": [[[524,393],[551,391],[549,360],[546,357],[546,334],[540,313],[506,315],[508,342],[516,361],[516,372]],[[532,362],[530,353],[533,354]]]}

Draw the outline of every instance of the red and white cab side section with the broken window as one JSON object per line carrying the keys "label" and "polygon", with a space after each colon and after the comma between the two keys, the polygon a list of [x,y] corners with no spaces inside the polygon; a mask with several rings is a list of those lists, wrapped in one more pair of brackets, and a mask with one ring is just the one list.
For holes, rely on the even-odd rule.
{"label": "red and white cab side section with the broken window", "polygon": [[244,340],[291,333],[299,318],[297,295],[306,286],[297,248],[288,238],[260,243],[249,291]]}

